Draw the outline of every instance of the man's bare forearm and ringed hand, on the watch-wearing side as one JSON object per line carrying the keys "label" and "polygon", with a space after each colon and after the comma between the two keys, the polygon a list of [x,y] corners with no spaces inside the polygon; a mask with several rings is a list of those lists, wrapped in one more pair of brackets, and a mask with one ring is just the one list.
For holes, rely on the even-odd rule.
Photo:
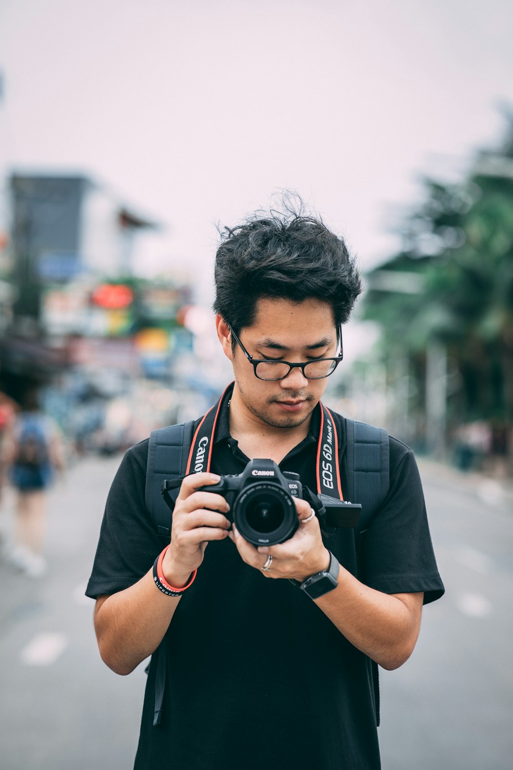
{"label": "man's bare forearm and ringed hand, on the watch-wearing side", "polygon": [[[310,516],[305,500],[295,498],[301,522]],[[261,569],[270,554],[271,569],[265,577],[288,577],[304,581],[311,574],[328,570],[329,551],[322,542],[317,517],[301,523],[290,540],[271,547],[255,548],[235,530],[230,534],[247,564]],[[344,567],[338,587],[315,600],[345,638],[373,661],[389,670],[408,660],[415,648],[421,622],[423,594],[383,594],[358,581]]]}

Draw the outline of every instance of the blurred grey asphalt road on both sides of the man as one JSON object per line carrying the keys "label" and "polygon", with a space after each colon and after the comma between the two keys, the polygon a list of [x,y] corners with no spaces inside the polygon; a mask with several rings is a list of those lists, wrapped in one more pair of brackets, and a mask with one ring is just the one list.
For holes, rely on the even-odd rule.
{"label": "blurred grey asphalt road on both sides of the man", "polygon": [[[51,491],[46,577],[17,573],[2,549],[2,770],[132,767],[145,666],[128,678],[108,670],[95,643],[93,603],[84,597],[119,460],[86,457]],[[513,489],[479,474],[419,464],[447,592],[425,608],[411,660],[381,672],[383,768],[508,770]],[[11,508],[6,490],[4,548]]]}

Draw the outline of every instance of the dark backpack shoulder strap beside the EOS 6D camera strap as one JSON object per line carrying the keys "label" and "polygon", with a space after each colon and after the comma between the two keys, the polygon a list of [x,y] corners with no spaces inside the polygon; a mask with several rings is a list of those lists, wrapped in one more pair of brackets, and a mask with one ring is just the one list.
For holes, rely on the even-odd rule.
{"label": "dark backpack shoulder strap beside the EOS 6D camera strap", "polygon": [[361,503],[360,531],[368,528],[390,485],[390,449],[385,428],[345,420],[345,456],[351,502]]}

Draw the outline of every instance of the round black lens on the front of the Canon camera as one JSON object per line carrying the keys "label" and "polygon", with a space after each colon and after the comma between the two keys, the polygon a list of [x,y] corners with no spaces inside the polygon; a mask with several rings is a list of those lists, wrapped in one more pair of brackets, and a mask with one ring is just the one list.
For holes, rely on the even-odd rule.
{"label": "round black lens on the front of the Canon camera", "polygon": [[233,517],[238,531],[253,545],[275,545],[298,528],[298,514],[288,492],[265,481],[250,484],[235,500]]}

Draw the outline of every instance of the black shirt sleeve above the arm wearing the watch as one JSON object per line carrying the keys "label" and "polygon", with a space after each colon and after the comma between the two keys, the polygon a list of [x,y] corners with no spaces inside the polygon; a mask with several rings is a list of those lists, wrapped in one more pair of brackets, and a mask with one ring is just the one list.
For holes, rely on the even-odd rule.
{"label": "black shirt sleeve above the arm wearing the watch", "polygon": [[385,594],[423,591],[424,604],[428,604],[440,598],[445,588],[438,574],[415,457],[411,449],[401,447],[405,452],[391,466],[385,504],[363,536],[364,581]]}

